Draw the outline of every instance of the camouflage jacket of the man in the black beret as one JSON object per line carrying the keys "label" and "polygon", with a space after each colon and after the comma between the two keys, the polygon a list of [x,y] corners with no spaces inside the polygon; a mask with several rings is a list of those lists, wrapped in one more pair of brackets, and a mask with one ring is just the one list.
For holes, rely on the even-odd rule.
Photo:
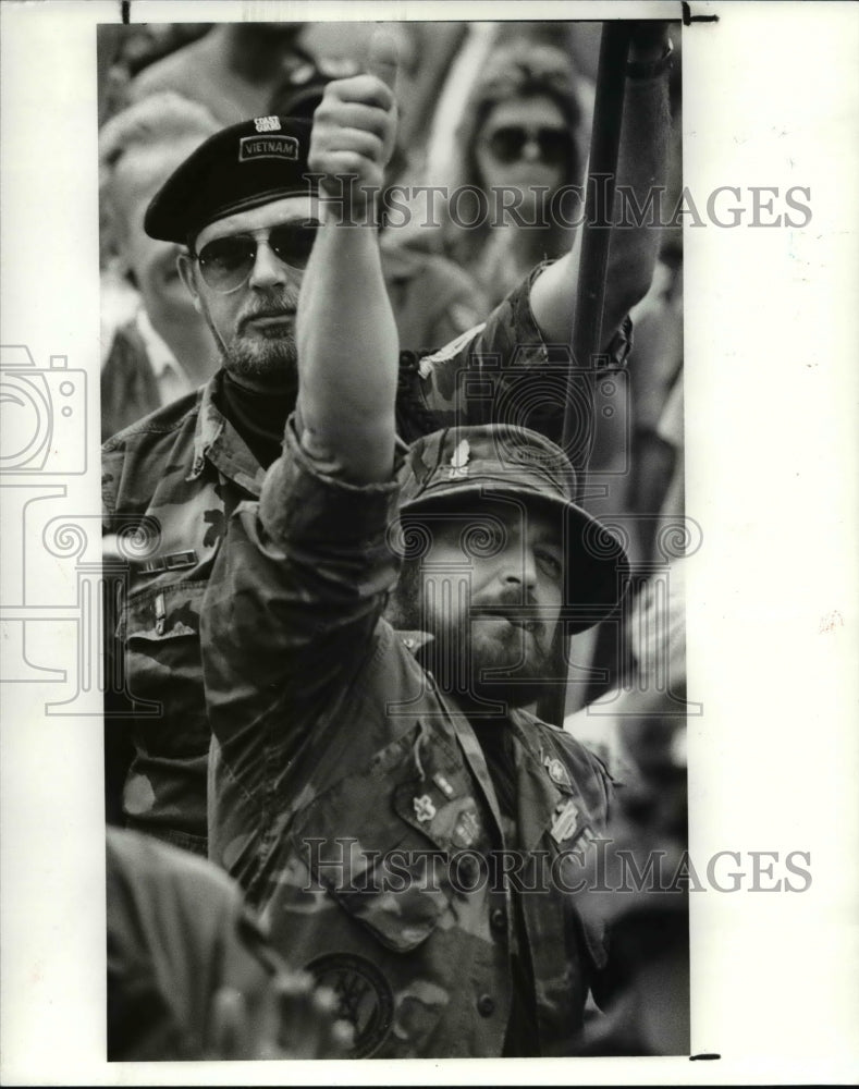
{"label": "camouflage jacket of the man in the black beret", "polygon": [[[403,353],[404,441],[454,421],[499,417],[560,438],[568,357],[543,343],[529,291],[530,280],[433,355]],[[627,322],[611,359],[622,365],[628,348]],[[124,687],[119,699],[106,699],[109,711],[118,708],[108,730],[127,730],[133,749],[122,812],[128,825],[201,853],[209,726],[200,603],[226,519],[240,502],[259,497],[265,475],[219,411],[219,384],[216,375],[102,448],[106,533],[131,531],[138,553],[108,621],[115,638],[108,633],[107,653],[118,662],[115,687]]]}

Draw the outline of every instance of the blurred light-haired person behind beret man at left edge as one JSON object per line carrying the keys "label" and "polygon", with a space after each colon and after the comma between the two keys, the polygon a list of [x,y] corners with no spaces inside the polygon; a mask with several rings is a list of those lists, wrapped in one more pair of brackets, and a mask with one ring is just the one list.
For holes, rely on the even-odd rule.
{"label": "blurred light-haired person behind beret man at left edge", "polygon": [[[218,123],[164,94],[123,110],[99,134],[102,210],[101,438],[189,393],[216,366],[214,344],[180,280],[183,247],[150,238],[144,212],[164,180]],[[180,362],[181,360],[181,362]]]}

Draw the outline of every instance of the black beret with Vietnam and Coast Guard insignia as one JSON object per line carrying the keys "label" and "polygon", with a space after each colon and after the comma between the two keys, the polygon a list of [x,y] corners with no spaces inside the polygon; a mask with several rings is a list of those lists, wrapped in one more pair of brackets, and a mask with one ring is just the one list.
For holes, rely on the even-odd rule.
{"label": "black beret with Vietnam and Coast Guard insignia", "polygon": [[318,192],[306,176],[310,123],[253,118],[210,136],[168,178],[144,218],[151,238],[184,245],[217,219]]}

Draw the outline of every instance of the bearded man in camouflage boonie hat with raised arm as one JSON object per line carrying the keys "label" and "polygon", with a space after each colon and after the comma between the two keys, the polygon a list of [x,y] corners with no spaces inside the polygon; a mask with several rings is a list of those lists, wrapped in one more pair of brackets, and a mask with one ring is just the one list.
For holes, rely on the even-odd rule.
{"label": "bearded man in camouflage boonie hat with raised arm", "polygon": [[204,602],[211,856],[333,989],[355,1056],[569,1054],[606,963],[572,893],[611,782],[524,707],[626,558],[535,431],[445,428],[398,456],[375,233],[323,222],[308,272],[284,453]]}

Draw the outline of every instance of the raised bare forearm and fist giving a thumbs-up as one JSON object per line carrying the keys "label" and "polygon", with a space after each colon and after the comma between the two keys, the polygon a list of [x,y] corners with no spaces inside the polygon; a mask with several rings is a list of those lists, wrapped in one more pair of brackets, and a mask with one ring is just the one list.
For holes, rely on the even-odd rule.
{"label": "raised bare forearm and fist giving a thumbs-up", "polygon": [[332,475],[356,485],[391,476],[400,352],[377,232],[357,225],[367,222],[396,133],[390,36],[373,36],[368,68],[330,83],[314,113],[308,163],[334,199],[323,201],[296,338],[302,444]]}

